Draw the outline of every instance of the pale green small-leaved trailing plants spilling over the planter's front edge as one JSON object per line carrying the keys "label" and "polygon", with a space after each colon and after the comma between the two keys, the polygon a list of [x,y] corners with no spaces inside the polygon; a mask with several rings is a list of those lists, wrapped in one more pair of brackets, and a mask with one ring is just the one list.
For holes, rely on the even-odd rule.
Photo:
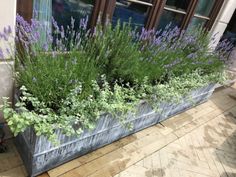
{"label": "pale green small-leaved trailing plants spilling over the planter's front edge", "polygon": [[[54,132],[58,129],[67,136],[80,134],[83,129],[93,129],[99,117],[105,113],[111,114],[125,126],[125,115],[128,112],[135,114],[140,100],[145,100],[153,109],[158,109],[158,103],[177,102],[194,89],[224,80],[225,74],[201,75],[201,72],[197,71],[181,77],[172,77],[164,84],[150,85],[144,81],[140,87],[125,87],[116,83],[111,88],[103,76],[101,86],[92,81],[92,92],[87,99],[80,99],[84,87],[78,83],[68,97],[61,101],[58,113],[22,86],[22,96],[15,109],[10,107],[7,100],[4,101],[4,117],[14,135],[23,132],[27,127],[33,127],[38,136],[44,135],[55,143]],[[27,102],[32,103],[34,110],[27,109]]]}

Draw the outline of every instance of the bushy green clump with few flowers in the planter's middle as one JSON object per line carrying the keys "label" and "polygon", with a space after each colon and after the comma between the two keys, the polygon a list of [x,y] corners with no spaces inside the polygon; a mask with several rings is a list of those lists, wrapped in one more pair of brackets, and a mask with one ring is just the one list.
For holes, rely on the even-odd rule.
{"label": "bushy green clump with few flowers in the planter's middle", "polygon": [[88,56],[96,61],[101,74],[111,82],[120,78],[134,82],[141,77],[141,51],[138,43],[134,43],[131,31],[125,23],[118,23],[114,28],[110,24],[105,29],[98,26],[96,34],[85,45]]}

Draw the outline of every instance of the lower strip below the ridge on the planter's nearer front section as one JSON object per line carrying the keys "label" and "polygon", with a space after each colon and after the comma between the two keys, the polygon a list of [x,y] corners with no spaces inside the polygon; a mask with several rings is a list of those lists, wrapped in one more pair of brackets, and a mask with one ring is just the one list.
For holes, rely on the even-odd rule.
{"label": "lower strip below the ridge on the planter's nearer front section", "polygon": [[82,156],[88,152],[117,141],[122,137],[150,127],[151,125],[156,124],[157,116],[158,115],[156,115],[155,113],[152,113],[147,116],[142,116],[140,118],[130,120],[130,122],[128,123],[133,124],[132,130],[127,129],[122,125],[117,125],[104,131],[100,131],[97,134],[91,134],[91,136],[79,139],[77,138],[75,141],[64,144],[54,150],[34,154],[33,174],[35,175],[47,171],[64,162],[67,162],[71,159]]}

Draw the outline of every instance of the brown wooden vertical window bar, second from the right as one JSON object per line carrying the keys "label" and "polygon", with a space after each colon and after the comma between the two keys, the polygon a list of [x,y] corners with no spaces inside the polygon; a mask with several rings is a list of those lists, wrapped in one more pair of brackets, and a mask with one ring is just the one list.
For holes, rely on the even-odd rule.
{"label": "brown wooden vertical window bar, second from the right", "polygon": [[186,11],[186,15],[184,17],[184,20],[181,24],[181,29],[186,29],[188,27],[188,24],[190,23],[190,20],[192,19],[194,13],[195,13],[195,10],[196,10],[196,7],[197,7],[197,3],[198,3],[198,0],[191,0],[189,6],[188,6],[188,9]]}

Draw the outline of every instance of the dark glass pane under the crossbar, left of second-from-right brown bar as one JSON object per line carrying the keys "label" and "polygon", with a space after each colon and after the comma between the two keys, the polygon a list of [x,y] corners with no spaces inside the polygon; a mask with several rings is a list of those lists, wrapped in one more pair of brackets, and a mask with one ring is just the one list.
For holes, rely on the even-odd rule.
{"label": "dark glass pane under the crossbar, left of second-from-right brown bar", "polygon": [[164,10],[159,21],[157,29],[164,29],[167,25],[171,24],[171,28],[180,27],[183,21],[184,15]]}

